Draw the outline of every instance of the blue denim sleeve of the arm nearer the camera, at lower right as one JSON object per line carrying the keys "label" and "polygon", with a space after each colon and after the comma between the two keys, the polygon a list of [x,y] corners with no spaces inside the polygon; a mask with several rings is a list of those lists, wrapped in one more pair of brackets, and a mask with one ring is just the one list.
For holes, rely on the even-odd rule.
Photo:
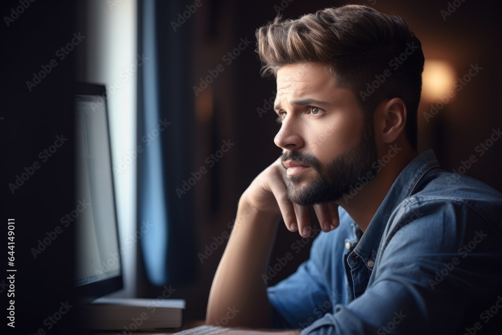
{"label": "blue denim sleeve of the arm nearer the camera, at lower right", "polygon": [[[406,220],[413,210],[423,215]],[[417,204],[394,219],[396,229],[384,235],[366,291],[336,305],[302,335],[450,334],[467,313],[496,301],[502,245],[469,206]]]}

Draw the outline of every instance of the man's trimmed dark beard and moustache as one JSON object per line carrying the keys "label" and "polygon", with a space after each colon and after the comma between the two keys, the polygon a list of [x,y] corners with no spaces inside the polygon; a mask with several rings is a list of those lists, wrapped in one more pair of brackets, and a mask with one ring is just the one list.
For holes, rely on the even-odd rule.
{"label": "man's trimmed dark beard and moustache", "polygon": [[311,177],[288,176],[288,198],[302,206],[339,200],[343,194],[350,192],[351,186],[354,187],[359,182],[358,178],[366,178],[368,172],[375,175],[378,167],[373,167],[373,163],[377,159],[373,127],[363,127],[359,143],[336,156],[325,167],[313,155],[297,151],[286,152],[281,156],[283,162],[302,162],[314,170],[312,180],[306,185],[302,183],[307,183],[306,179]]}

